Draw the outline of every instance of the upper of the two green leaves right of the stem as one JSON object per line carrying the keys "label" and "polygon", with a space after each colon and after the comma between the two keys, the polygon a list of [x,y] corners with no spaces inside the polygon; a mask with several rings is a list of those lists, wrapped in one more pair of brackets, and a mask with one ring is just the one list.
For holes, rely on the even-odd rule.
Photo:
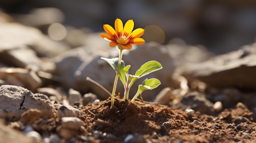
{"label": "upper of the two green leaves right of the stem", "polygon": [[[152,73],[154,71],[160,70],[162,68],[162,65],[157,62],[157,61],[149,61],[143,64],[139,70],[136,71],[135,76],[139,76],[139,78],[148,75],[149,73]],[[139,79],[137,78],[137,79]],[[129,87],[132,86],[132,84],[137,80],[137,79],[132,79],[130,81]]]}

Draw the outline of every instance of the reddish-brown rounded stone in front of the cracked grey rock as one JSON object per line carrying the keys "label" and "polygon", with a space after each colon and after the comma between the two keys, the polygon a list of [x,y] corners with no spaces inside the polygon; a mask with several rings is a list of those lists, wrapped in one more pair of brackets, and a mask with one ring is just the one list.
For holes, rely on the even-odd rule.
{"label": "reddish-brown rounded stone in front of the cracked grey rock", "polygon": [[29,125],[34,121],[38,120],[41,116],[42,112],[38,109],[29,109],[26,112],[21,114],[20,121],[24,125]]}

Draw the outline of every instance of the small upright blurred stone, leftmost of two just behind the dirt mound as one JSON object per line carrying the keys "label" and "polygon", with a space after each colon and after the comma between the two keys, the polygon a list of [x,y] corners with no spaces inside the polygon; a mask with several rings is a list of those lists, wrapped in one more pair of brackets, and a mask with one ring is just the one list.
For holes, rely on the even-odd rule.
{"label": "small upright blurred stone, leftmost of two just behind the dirt mound", "polygon": [[68,92],[68,101],[70,105],[74,105],[74,103],[79,103],[80,105],[83,105],[83,99],[80,92],[70,88]]}

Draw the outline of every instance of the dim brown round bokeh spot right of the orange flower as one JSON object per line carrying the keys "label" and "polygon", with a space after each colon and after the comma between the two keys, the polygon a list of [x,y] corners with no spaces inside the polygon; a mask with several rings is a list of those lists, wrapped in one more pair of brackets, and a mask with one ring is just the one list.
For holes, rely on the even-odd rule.
{"label": "dim brown round bokeh spot right of the orange flower", "polygon": [[149,44],[162,44],[165,40],[164,31],[155,25],[145,27],[143,39]]}

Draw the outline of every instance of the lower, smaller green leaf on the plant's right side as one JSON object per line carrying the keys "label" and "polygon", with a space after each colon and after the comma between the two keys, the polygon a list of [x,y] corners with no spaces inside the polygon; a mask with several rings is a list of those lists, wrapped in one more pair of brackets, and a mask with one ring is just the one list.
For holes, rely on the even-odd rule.
{"label": "lower, smaller green leaf on the plant's right side", "polygon": [[145,79],[141,85],[139,85],[139,89],[137,90],[137,93],[132,98],[132,102],[135,101],[135,99],[139,96],[140,93],[142,93],[144,90],[152,90],[154,88],[157,88],[161,82],[158,79],[152,78],[152,79]]}

